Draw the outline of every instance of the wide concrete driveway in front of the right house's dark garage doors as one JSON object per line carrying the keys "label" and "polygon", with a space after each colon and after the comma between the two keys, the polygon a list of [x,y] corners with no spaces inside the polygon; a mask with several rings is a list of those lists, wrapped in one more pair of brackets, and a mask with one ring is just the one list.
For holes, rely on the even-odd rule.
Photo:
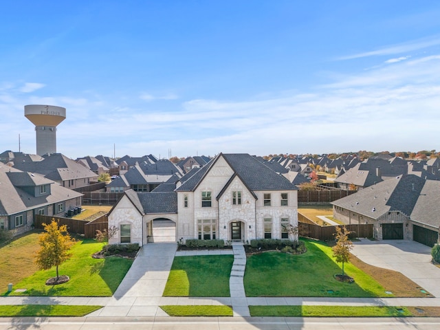
{"label": "wide concrete driveway in front of the right house's dark garage doors", "polygon": [[352,253],[364,263],[401,272],[410,280],[440,297],[440,268],[430,263],[431,248],[415,241],[361,239]]}

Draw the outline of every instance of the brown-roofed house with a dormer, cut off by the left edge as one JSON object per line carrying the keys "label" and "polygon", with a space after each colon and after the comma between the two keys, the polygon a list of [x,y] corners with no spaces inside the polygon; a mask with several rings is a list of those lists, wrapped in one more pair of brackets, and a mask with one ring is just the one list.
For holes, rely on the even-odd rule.
{"label": "brown-roofed house with a dormer, cut off by the left edge", "polygon": [[65,216],[80,207],[82,196],[41,175],[0,164],[0,229],[21,234],[32,229],[34,216]]}

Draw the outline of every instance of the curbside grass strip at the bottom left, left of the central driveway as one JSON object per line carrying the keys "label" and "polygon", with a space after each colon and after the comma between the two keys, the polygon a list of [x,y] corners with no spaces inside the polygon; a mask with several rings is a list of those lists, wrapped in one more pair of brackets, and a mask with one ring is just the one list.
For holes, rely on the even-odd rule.
{"label": "curbside grass strip at the bottom left, left of the central driveway", "polygon": [[0,317],[25,316],[85,316],[102,306],[67,306],[67,305],[3,305]]}

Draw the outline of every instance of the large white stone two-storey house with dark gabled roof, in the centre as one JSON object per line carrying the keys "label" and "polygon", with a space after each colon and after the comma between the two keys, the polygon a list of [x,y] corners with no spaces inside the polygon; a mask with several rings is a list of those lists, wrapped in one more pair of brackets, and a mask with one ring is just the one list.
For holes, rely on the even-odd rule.
{"label": "large white stone two-storey house with dark gabled roof, in the centre", "polygon": [[174,191],[127,190],[109,212],[120,229],[110,243],[296,239],[284,225],[298,225],[297,189],[256,157],[220,153]]}

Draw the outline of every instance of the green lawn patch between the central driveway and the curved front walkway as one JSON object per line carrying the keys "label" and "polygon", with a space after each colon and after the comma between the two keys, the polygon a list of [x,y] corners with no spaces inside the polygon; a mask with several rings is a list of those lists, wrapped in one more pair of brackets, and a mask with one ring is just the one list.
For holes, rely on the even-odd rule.
{"label": "green lawn patch between the central driveway and the curved front walkway", "polygon": [[229,297],[234,256],[176,256],[164,296]]}

